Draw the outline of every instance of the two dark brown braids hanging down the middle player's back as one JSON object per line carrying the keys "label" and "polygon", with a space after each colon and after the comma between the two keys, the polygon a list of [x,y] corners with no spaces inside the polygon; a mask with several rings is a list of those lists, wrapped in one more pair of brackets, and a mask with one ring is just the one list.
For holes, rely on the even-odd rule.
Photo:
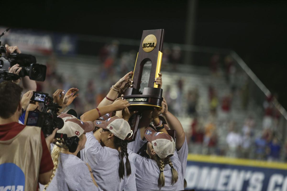
{"label": "two dark brown braids hanging down the middle player's back", "polygon": [[[120,164],[119,164],[119,177],[120,179],[124,179],[125,176],[125,166],[127,171],[127,176],[131,174],[131,164],[129,162],[129,154],[127,153],[127,140],[122,140],[117,136],[114,136],[114,144],[117,148],[120,148],[121,152],[119,155],[121,156]],[[126,162],[124,165],[124,157],[126,157]]]}

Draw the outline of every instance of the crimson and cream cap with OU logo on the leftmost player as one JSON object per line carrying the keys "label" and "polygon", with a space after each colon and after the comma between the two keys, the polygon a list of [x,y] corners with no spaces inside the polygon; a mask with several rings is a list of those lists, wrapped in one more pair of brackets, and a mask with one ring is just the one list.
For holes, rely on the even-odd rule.
{"label": "crimson and cream cap with OU logo on the leftmost player", "polygon": [[79,137],[83,133],[93,131],[95,128],[92,121],[83,122],[77,119],[77,117],[67,113],[62,113],[58,117],[63,119],[64,126],[62,127],[62,129],[59,129],[57,133],[66,134],[67,137]]}

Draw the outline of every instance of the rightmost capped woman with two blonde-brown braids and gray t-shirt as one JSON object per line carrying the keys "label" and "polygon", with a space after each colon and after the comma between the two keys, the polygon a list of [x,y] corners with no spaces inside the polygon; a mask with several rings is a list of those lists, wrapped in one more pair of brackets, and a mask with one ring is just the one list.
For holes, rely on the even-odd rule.
{"label": "rightmost capped woman with two blonde-brown braids and gray t-shirt", "polygon": [[130,160],[137,169],[137,190],[179,190],[177,180],[181,173],[181,164],[175,152],[173,138],[151,127],[146,128],[144,137],[148,141],[146,152],[149,159],[128,149]]}

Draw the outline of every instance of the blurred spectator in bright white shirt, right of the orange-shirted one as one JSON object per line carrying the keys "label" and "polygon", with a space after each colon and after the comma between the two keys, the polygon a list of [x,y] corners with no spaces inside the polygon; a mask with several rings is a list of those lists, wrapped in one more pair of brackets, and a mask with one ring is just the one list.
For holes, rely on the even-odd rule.
{"label": "blurred spectator in bright white shirt, right of the orange-shirted one", "polygon": [[229,157],[238,157],[242,145],[242,137],[238,133],[235,122],[230,122],[229,133],[226,137],[226,143],[228,145],[227,155]]}

